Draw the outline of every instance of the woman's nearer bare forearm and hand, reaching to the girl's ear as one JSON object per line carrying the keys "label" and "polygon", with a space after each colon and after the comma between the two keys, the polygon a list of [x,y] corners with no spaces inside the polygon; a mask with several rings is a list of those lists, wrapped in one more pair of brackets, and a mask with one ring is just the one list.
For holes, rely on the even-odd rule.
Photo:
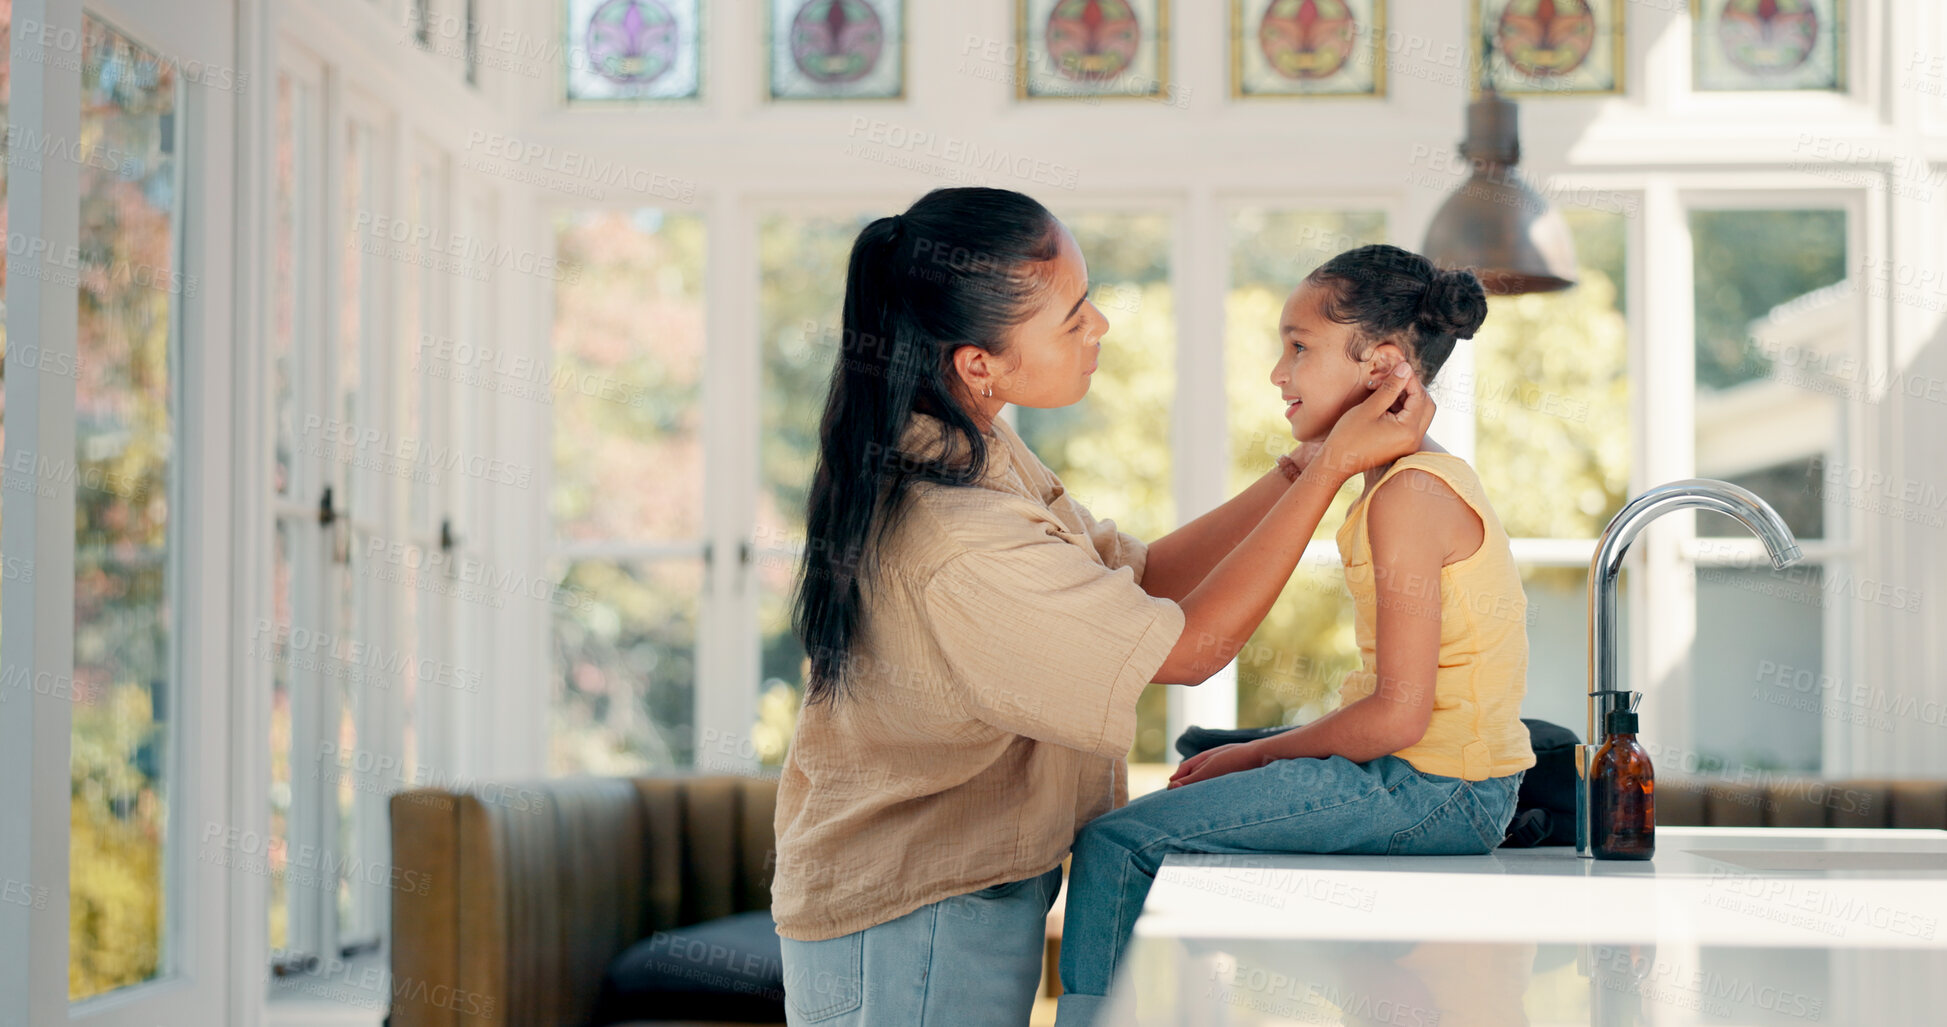
{"label": "woman's nearer bare forearm and hand, reaching to the girl's ear", "polygon": [[[1400,368],[1406,368],[1404,361]],[[1390,407],[1402,394],[1406,401],[1392,413]],[[1231,663],[1299,567],[1304,544],[1318,530],[1340,485],[1361,470],[1417,448],[1431,421],[1433,399],[1412,376],[1386,378],[1367,401],[1340,417],[1304,474],[1178,602],[1184,610],[1184,633],[1151,680],[1199,684]]]}

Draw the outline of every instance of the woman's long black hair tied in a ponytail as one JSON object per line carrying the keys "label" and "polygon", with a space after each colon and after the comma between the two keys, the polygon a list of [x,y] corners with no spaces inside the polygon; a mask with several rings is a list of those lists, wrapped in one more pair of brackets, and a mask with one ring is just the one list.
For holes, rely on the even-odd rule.
{"label": "woman's long black hair tied in a ponytail", "polygon": [[[1055,216],[1007,189],[935,189],[853,242],[792,598],[792,628],[810,657],[806,702],[843,692],[863,618],[861,577],[898,524],[905,491],[981,477],[987,446],[966,411],[954,351],[1003,353],[1007,331],[1034,314],[1044,288],[1032,265],[1057,251]],[[898,448],[915,411],[944,423],[944,450],[933,460]]]}

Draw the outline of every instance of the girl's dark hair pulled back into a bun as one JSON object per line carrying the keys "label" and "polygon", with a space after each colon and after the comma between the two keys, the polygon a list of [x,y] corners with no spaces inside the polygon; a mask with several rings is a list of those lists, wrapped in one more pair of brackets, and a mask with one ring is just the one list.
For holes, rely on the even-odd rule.
{"label": "girl's dark hair pulled back into a bun", "polygon": [[1472,271],[1443,271],[1398,246],[1361,246],[1318,265],[1304,281],[1324,286],[1326,318],[1353,325],[1353,361],[1378,343],[1400,343],[1423,382],[1488,320],[1488,290]]}

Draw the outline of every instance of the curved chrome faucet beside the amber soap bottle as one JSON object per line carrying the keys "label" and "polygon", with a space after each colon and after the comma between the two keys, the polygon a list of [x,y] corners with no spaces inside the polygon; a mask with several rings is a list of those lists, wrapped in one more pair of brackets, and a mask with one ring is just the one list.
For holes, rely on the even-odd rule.
{"label": "curved chrome faucet beside the amber soap bottle", "polygon": [[1602,528],[1602,540],[1589,561],[1589,735],[1575,746],[1575,856],[1593,856],[1589,774],[1595,770],[1595,750],[1602,744],[1602,731],[1612,709],[1635,709],[1639,692],[1616,688],[1616,579],[1622,577],[1622,557],[1637,532],[1651,520],[1672,511],[1715,511],[1735,516],[1764,540],[1772,553],[1772,567],[1783,569],[1803,555],[1791,538],[1791,528],[1770,503],[1729,481],[1711,477],[1686,477],[1657,485],[1632,499]]}

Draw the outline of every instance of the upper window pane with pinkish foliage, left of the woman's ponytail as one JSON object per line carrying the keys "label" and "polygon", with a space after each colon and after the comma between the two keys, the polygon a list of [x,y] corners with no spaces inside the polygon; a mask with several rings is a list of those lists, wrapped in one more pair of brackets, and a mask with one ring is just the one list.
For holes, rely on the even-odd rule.
{"label": "upper window pane with pinkish foliage, left of the woman's ponytail", "polygon": [[555,220],[555,536],[703,534],[703,218]]}

